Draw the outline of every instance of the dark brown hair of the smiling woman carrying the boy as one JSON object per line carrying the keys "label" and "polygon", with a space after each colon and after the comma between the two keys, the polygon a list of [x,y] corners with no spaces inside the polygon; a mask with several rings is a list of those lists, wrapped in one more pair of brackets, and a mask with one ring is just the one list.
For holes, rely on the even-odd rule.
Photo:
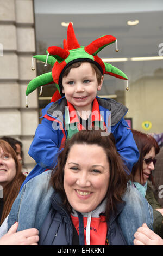
{"label": "dark brown hair of the smiling woman carrying the boy", "polygon": [[88,144],[92,146],[96,144],[104,149],[108,157],[110,178],[108,191],[106,193],[105,212],[106,220],[108,220],[110,214],[116,212],[117,203],[122,202],[122,195],[126,192],[127,182],[129,180],[129,176],[126,174],[127,168],[124,166],[116,150],[114,136],[112,134],[102,136],[100,129],[81,130],[74,134],[70,140],[67,140],[64,150],[59,155],[55,171],[52,172],[50,184],[54,187],[55,191],[60,194],[63,204],[69,212],[72,211],[72,207],[68,203],[64,190],[64,168],[68,153],[74,144]]}

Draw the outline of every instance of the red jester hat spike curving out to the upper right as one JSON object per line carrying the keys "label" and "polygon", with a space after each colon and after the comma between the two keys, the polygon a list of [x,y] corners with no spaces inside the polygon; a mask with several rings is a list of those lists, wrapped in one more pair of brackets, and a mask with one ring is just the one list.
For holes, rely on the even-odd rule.
{"label": "red jester hat spike curving out to the upper right", "polygon": [[112,35],[103,35],[103,37],[100,37],[96,39],[95,41],[92,41],[89,45],[87,45],[84,49],[87,53],[90,53],[92,55],[97,55],[99,51],[101,51],[104,47],[106,47],[109,44],[112,44],[116,41],[116,38]]}

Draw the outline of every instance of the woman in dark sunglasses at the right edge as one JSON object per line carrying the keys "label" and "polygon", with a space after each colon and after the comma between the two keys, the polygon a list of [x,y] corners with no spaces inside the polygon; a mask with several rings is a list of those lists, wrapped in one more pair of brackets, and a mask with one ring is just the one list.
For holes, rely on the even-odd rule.
{"label": "woman in dark sunglasses at the right edge", "polygon": [[[154,231],[163,238],[163,216],[162,209],[155,199],[154,191],[151,186],[154,185],[154,169],[156,163],[156,154],[159,153],[159,146],[156,140],[145,133],[132,130],[134,140],[139,149],[140,158],[132,170],[134,186],[148,200],[154,211]],[[149,181],[151,183],[149,183]]]}

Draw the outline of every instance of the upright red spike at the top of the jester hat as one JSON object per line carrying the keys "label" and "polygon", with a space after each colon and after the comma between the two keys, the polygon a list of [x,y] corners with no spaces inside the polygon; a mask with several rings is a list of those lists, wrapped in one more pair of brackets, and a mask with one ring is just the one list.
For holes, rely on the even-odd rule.
{"label": "upright red spike at the top of the jester hat", "polygon": [[67,48],[68,50],[80,48],[78,40],[73,30],[72,23],[70,22],[67,29]]}

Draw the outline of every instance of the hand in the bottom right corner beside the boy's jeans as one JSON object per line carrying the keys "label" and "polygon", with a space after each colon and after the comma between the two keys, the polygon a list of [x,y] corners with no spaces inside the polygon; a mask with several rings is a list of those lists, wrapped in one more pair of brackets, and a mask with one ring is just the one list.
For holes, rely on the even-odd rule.
{"label": "hand in the bottom right corner beside the boy's jeans", "polygon": [[148,228],[146,223],[134,234],[134,245],[163,245],[163,239]]}

